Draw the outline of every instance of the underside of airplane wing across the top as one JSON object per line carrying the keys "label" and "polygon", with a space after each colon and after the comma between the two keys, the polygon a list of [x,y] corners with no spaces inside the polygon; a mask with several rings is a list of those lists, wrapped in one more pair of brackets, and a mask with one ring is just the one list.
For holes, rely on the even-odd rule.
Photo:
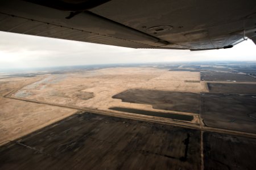
{"label": "underside of airplane wing across the top", "polygon": [[255,0],[2,0],[0,31],[129,48],[256,43]]}

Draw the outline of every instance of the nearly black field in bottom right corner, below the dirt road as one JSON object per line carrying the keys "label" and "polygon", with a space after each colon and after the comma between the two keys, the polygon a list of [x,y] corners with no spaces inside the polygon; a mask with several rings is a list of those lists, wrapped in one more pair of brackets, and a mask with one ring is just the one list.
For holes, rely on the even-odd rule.
{"label": "nearly black field in bottom right corner, below the dirt road", "polygon": [[204,133],[205,169],[255,169],[256,139]]}

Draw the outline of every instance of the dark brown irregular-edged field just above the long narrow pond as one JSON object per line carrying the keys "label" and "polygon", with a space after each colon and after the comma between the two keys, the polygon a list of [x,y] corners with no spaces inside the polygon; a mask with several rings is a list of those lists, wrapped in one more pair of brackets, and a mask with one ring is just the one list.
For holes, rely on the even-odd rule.
{"label": "dark brown irregular-edged field just above the long narrow pond", "polygon": [[113,96],[123,102],[150,104],[154,109],[199,113],[200,94],[191,92],[131,89]]}

